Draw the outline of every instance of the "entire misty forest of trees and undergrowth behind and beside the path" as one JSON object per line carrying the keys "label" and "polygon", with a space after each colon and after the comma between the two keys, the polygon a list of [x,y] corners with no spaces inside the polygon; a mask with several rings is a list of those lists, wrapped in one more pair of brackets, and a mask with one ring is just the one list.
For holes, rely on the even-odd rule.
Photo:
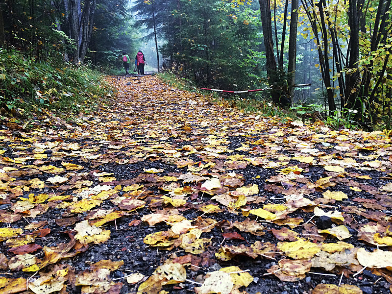
{"label": "entire misty forest of trees and undergrowth behind and beside the path", "polygon": [[2,114],[87,104],[141,49],[197,87],[391,128],[391,0],[2,0],[0,46]]}

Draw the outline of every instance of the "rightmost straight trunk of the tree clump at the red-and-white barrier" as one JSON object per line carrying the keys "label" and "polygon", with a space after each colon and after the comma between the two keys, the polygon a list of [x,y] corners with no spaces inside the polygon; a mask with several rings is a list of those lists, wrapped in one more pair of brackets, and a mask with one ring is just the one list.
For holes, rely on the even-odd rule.
{"label": "rightmost straight trunk of the tree clump at the red-and-white barrier", "polygon": [[[289,65],[288,84],[292,88],[295,84],[295,61],[297,53],[297,25],[298,25],[298,0],[291,2],[290,37],[289,37]],[[290,91],[291,92],[291,91]],[[293,98],[292,98],[293,102]]]}

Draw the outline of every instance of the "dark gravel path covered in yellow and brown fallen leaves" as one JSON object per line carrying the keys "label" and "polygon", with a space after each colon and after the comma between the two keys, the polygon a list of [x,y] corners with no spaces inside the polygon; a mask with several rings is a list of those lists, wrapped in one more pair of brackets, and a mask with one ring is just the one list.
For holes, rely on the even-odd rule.
{"label": "dark gravel path covered in yellow and brown fallen leaves", "polygon": [[108,79],[73,124],[1,127],[0,293],[392,289],[390,137]]}

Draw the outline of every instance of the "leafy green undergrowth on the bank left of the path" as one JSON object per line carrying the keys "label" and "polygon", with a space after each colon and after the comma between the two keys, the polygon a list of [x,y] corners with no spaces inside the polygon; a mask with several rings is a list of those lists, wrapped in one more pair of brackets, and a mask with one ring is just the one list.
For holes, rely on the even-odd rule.
{"label": "leafy green undergrowth on the bank left of the path", "polygon": [[81,112],[96,108],[111,92],[102,74],[87,66],[75,67],[62,60],[36,62],[18,50],[0,48],[2,115]]}

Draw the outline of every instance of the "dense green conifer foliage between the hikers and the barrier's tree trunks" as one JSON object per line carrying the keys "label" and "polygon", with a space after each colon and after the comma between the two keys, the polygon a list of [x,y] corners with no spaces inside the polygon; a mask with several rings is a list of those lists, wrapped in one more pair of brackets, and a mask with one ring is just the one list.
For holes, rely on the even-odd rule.
{"label": "dense green conifer foliage between the hikers and the barrier's tree trunks", "polygon": [[161,52],[172,71],[199,86],[242,90],[260,86],[261,24],[255,6],[221,0],[168,0]]}

